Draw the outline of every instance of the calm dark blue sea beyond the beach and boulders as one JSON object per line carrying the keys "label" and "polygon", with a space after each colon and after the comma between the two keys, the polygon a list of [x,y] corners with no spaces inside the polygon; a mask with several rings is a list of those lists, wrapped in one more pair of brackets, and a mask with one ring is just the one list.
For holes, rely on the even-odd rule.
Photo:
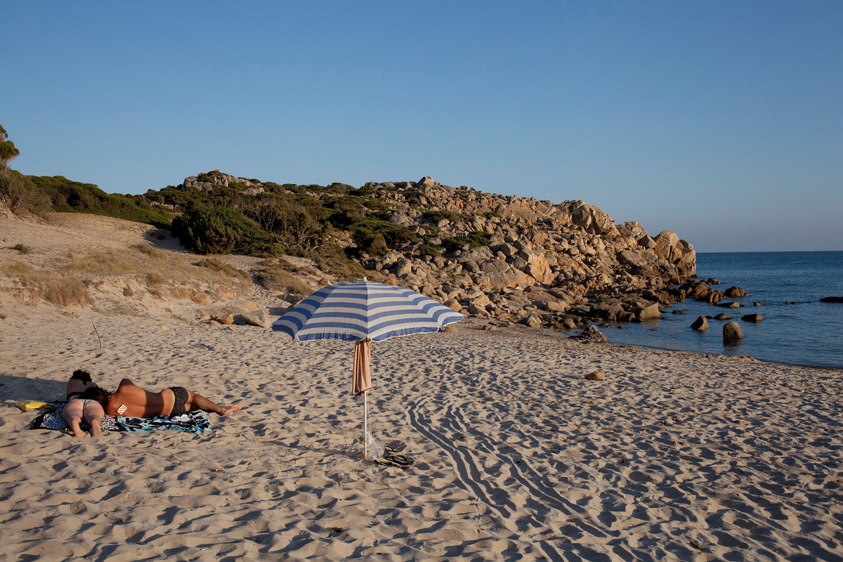
{"label": "calm dark blue sea beyond the beach and boulders", "polygon": [[[631,344],[658,350],[697,351],[717,355],[753,356],[761,361],[791,365],[843,367],[843,303],[819,302],[822,297],[843,297],[843,252],[735,252],[696,256],[701,281],[715,277],[725,292],[740,286],[749,297],[741,308],[721,308],[687,300],[663,308],[662,318],[624,329],[600,328],[613,344]],[[763,302],[760,307],[753,306]],[[785,304],[786,301],[797,304]],[[673,314],[684,310],[687,314]],[[722,325],[728,320],[708,319],[708,331],[690,324],[698,316],[726,312],[740,324],[744,340],[724,345]],[[759,313],[758,324],[744,322],[744,314]]]}

